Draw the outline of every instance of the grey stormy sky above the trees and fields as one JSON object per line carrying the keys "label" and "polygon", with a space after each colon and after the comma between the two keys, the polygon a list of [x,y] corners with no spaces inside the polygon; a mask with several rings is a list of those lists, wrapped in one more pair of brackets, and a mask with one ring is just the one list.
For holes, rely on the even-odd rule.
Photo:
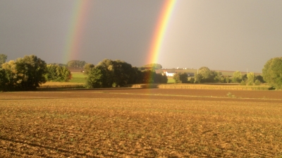
{"label": "grey stormy sky above the trees and fields", "polygon": [[282,56],[282,1],[176,0],[152,61],[166,1],[0,0],[0,54],[256,73]]}

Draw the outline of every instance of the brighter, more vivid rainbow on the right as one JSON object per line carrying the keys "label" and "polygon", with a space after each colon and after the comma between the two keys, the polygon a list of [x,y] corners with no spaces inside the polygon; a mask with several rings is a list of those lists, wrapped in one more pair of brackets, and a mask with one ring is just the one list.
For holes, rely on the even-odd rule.
{"label": "brighter, more vivid rainbow on the right", "polygon": [[157,63],[159,53],[161,51],[161,44],[164,41],[164,35],[168,28],[169,19],[172,16],[173,8],[176,6],[176,0],[166,0],[161,8],[159,20],[157,21],[154,35],[152,37],[151,47],[147,56],[147,63]]}

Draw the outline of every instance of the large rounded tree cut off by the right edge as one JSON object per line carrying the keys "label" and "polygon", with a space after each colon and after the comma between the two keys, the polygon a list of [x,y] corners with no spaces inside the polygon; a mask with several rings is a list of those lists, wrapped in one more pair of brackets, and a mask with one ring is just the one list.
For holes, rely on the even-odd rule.
{"label": "large rounded tree cut off by the right edge", "polygon": [[262,76],[269,85],[282,89],[282,57],[267,61],[262,69]]}

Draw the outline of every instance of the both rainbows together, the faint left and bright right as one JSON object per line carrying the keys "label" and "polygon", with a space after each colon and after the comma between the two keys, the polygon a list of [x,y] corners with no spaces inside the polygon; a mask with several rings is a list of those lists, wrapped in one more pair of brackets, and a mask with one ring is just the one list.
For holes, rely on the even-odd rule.
{"label": "both rainbows together, the faint left and bright right", "polygon": [[[85,22],[87,12],[92,0],[77,0],[73,4],[73,15],[71,16],[71,24],[68,29],[66,39],[66,47],[64,49],[63,60],[65,62],[71,59],[77,59],[80,53],[83,31],[85,30]],[[157,63],[161,51],[164,35],[168,28],[168,22],[176,6],[177,0],[164,0],[164,4],[159,14],[157,25],[154,29],[151,46],[147,55],[147,63]]]}

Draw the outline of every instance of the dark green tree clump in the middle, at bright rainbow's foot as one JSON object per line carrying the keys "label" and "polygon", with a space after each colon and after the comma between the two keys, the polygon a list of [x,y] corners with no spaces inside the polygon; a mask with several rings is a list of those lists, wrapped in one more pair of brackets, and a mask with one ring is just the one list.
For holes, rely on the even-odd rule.
{"label": "dark green tree clump in the middle, at bright rainbow's foot", "polygon": [[139,71],[125,61],[104,59],[87,76],[87,87],[122,87],[135,83],[167,83],[166,75],[153,70]]}

